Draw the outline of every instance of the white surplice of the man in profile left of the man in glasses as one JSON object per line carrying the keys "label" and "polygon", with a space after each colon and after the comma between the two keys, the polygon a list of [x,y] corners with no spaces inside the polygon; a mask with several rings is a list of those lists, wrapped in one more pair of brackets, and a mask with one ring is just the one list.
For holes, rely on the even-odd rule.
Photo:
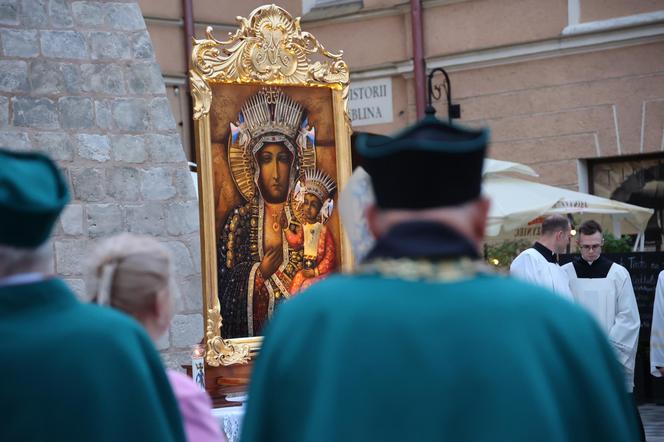
{"label": "white surplice of the man in profile left of the man in glasses", "polygon": [[512,261],[510,274],[523,281],[546,287],[563,298],[572,300],[567,274],[558,264],[547,261],[534,248],[524,250]]}

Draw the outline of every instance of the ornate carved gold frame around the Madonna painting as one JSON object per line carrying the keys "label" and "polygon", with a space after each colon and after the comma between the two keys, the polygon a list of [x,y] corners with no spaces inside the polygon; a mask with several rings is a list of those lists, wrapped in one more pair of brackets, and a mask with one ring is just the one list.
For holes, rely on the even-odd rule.
{"label": "ornate carved gold frame around the Madonna painting", "polygon": [[[206,361],[211,366],[247,363],[259,348],[261,337],[224,339],[217,297],[217,256],[214,220],[213,170],[210,134],[210,84],[266,84],[326,87],[332,90],[334,131],[337,147],[339,189],[351,173],[351,126],[347,113],[348,65],[342,53],[327,51],[316,38],[302,31],[300,18],[293,18],[276,5],[255,9],[226,41],[218,41],[212,28],[205,39],[194,39],[189,71],[194,107],[196,159],[198,162],[201,214],[203,308]],[[320,60],[312,60],[317,55]],[[352,267],[348,237],[341,231],[342,270]],[[213,296],[214,294],[214,296]]]}

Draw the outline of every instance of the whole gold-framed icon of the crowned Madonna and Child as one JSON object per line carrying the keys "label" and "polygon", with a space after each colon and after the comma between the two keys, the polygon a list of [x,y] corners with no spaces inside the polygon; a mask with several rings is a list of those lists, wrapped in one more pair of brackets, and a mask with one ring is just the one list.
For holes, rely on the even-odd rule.
{"label": "whole gold-framed icon of the crowned Madonna and Child", "polygon": [[246,362],[279,305],[351,265],[336,209],[348,68],[277,6],[240,24],[226,42],[196,40],[190,72],[214,366]]}

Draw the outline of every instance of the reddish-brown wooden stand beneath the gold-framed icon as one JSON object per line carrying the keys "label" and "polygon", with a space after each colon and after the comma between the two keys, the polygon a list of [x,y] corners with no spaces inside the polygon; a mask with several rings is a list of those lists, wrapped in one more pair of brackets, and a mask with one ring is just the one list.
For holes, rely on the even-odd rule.
{"label": "reddish-brown wooden stand beneath the gold-framed icon", "polygon": [[[183,365],[187,375],[192,377],[191,365]],[[253,368],[253,359],[247,364],[230,365],[228,367],[211,367],[205,365],[205,390],[212,399],[214,408],[236,407],[238,402],[229,402],[226,396],[243,394],[249,387],[249,379]]]}

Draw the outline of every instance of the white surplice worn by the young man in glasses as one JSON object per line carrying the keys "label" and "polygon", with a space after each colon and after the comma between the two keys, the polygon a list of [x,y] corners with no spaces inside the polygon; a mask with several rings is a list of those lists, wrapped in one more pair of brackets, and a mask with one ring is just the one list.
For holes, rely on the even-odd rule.
{"label": "white surplice worn by the young man in glasses", "polygon": [[579,278],[573,263],[562,268],[569,277],[574,301],[588,310],[607,334],[631,392],[641,318],[629,272],[613,263],[606,278]]}

